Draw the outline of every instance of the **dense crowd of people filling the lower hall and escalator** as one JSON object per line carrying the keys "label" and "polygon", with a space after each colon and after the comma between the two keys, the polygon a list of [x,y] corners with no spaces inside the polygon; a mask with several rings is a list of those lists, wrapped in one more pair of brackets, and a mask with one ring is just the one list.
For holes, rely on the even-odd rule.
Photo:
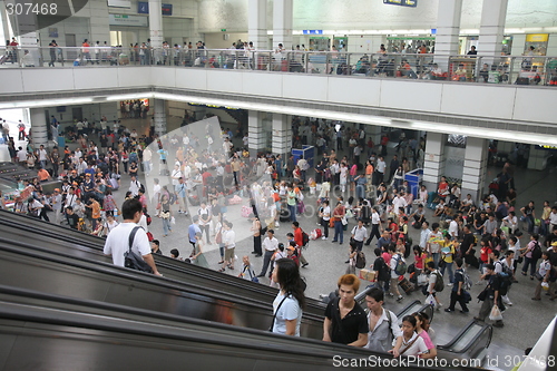
{"label": "dense crowd of people filling the lower hall and escalator", "polygon": [[[325,312],[325,341],[391,351],[394,355],[416,352],[434,357],[428,319],[420,313],[404,318],[400,330],[393,325],[394,314],[382,304],[385,297],[401,301],[402,293],[421,290],[426,302],[440,309],[438,293],[447,285],[451,294],[446,312],[455,312],[459,303],[461,312],[467,313],[472,269],[478,270],[477,283],[486,284],[478,320],[494,318],[494,307],[504,312],[512,305],[509,290],[518,281],[521,263],[518,272],[539,282],[532,300],[540,300],[543,290],[555,299],[557,207],[545,202],[539,218],[534,201],[518,208],[510,164],[498,175],[499,187],[490,188],[478,203],[471,195],[463,196],[458,183],[450,184],[444,177],[436,191],[423,185],[416,191],[404,180],[404,174],[422,165],[426,138],[400,136],[388,163],[387,135],[375,145],[364,130],[341,123],[294,118],[293,141],[319,143],[313,166],[293,156],[251,155],[246,148],[234,146],[232,131],[213,125],[187,125],[160,138],[150,133],[139,136],[119,125],[101,129],[99,140],[81,130],[79,135],[89,139],[85,148],[81,141],[76,149],[66,147],[63,152],[39,146],[35,163],[52,174],[47,172],[45,178],[39,175],[39,179],[22,184],[20,188],[28,189],[32,197],[17,199],[14,212],[50,219],[51,211],[53,223],[66,219],[72,228],[107,236],[105,252],[113,256],[121,248],[116,247],[117,241],[129,235],[131,224],[138,224],[143,232],[136,234],[137,246],[134,243],[133,248],[154,273],[158,273],[154,261],[145,256],[159,254],[160,242],[149,232],[149,224],[158,218],[164,237],[175,233],[175,225],[184,224],[184,216],[190,217],[190,253],[188,247],[184,254],[184,246],[173,246],[170,256],[253,282],[268,277],[270,285],[281,289],[274,302],[275,332],[300,333],[304,306],[300,269],[309,265],[304,247],[310,240],[326,243],[330,228],[334,231],[332,243],[342,245],[346,237],[349,246],[346,274]],[[111,139],[106,140],[107,136]],[[339,156],[339,152],[346,156]],[[14,160],[29,166],[19,156]],[[129,175],[129,186],[121,184],[121,174]],[[145,184],[140,175],[146,176]],[[43,194],[41,180],[50,177],[62,185],[52,194]],[[149,197],[147,179],[153,179]],[[119,188],[126,192],[121,209],[113,196]],[[252,223],[253,258],[263,261],[258,273],[250,256],[237,262],[238,214]],[[307,225],[309,219],[317,224],[314,231],[302,228],[301,223]],[[290,232],[284,242],[275,235],[281,227]],[[411,228],[419,231],[419,241],[410,237]],[[525,243],[526,234],[529,242]],[[375,260],[362,266],[360,256],[371,243]],[[218,247],[216,266],[205,256],[211,246]],[[358,269],[374,272],[374,289],[367,297],[368,318],[353,302],[360,285],[354,275]],[[345,321],[346,316],[351,320]],[[350,331],[339,324],[345,322]],[[500,316],[494,324],[502,326]],[[392,339],[385,340],[384,333]]]}

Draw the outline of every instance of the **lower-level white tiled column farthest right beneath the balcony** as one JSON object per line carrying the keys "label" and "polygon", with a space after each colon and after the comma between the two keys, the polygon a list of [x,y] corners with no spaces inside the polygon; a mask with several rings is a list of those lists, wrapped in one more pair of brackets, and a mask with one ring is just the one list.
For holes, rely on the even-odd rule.
{"label": "lower-level white tiled column farthest right beneath the balcony", "polygon": [[[429,134],[428,134],[429,136]],[[462,169],[462,197],[472,195],[479,201],[483,194],[487,176],[488,140],[482,138],[466,138],[465,167]]]}

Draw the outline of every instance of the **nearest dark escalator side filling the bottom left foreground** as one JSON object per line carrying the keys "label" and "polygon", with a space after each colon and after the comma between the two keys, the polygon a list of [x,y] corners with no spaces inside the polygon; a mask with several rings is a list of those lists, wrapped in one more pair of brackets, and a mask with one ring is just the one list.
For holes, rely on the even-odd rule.
{"label": "nearest dark escalator side filling the bottom left foreground", "polygon": [[[91,305],[92,304],[92,305]],[[2,370],[321,371],[371,368],[364,349],[0,286]],[[353,362],[353,363],[352,363]],[[392,364],[389,370],[441,370]],[[477,370],[453,368],[453,370]]]}

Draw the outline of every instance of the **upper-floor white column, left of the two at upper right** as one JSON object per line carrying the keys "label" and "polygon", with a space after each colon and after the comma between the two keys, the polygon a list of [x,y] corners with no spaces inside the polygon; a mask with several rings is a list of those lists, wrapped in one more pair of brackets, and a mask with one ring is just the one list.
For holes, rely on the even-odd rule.
{"label": "upper-floor white column, left of the two at upper right", "polygon": [[448,70],[449,56],[458,55],[461,12],[462,0],[439,1],[434,62],[438,64],[443,71]]}

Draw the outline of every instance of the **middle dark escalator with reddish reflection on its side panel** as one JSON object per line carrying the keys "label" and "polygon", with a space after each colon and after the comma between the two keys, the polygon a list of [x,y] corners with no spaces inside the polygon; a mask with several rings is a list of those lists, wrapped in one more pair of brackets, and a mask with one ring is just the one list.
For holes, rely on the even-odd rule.
{"label": "middle dark escalator with reddish reflection on its side panel", "polygon": [[[241,328],[267,330],[273,320],[274,297],[258,301],[226,285],[214,290],[111,263],[55,254],[50,247],[55,246],[0,242],[1,283]],[[322,339],[323,316],[304,311],[300,332],[304,338]]]}

